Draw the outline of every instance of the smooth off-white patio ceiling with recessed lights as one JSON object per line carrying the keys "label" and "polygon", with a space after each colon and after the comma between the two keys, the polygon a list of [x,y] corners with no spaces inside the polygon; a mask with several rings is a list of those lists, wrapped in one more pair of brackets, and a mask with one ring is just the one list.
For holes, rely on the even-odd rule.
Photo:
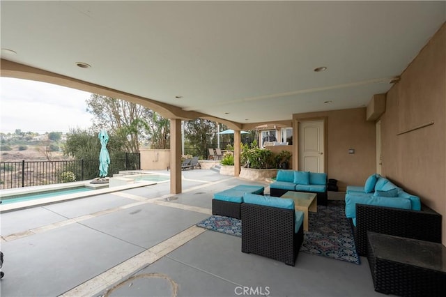
{"label": "smooth off-white patio ceiling with recessed lights", "polygon": [[445,3],[1,1],[1,48],[17,52],[1,58],[238,123],[290,120],[387,92]]}

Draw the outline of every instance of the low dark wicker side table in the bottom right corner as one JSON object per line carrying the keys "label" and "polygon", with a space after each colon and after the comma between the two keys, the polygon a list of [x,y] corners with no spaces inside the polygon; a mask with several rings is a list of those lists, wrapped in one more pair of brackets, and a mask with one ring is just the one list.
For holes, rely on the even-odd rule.
{"label": "low dark wicker side table in the bottom right corner", "polygon": [[367,232],[375,291],[398,296],[446,296],[446,248],[440,243]]}

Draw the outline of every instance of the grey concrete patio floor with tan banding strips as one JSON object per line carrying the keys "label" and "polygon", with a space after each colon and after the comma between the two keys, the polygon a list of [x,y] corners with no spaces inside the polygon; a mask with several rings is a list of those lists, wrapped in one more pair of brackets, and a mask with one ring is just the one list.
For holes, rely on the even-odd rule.
{"label": "grey concrete patio floor with tan banding strips", "polygon": [[364,257],[300,252],[292,267],[196,227],[215,192],[261,183],[182,174],[178,195],[160,183],[1,213],[1,296],[383,296]]}

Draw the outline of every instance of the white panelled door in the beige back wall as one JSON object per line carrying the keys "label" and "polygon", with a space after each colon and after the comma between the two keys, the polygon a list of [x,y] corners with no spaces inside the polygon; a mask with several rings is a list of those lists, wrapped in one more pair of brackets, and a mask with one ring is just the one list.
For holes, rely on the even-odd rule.
{"label": "white panelled door in the beige back wall", "polygon": [[299,129],[299,170],[324,172],[323,121],[305,121]]}

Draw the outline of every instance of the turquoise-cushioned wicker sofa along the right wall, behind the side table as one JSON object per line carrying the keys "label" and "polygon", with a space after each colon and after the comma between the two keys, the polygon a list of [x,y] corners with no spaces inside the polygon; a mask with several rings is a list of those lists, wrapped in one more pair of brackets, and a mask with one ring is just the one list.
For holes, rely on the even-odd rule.
{"label": "turquoise-cushioned wicker sofa along the right wall, behind the side table", "polygon": [[346,217],[358,254],[367,255],[367,231],[441,243],[439,213],[387,178],[373,176],[367,178],[364,187],[347,187]]}

